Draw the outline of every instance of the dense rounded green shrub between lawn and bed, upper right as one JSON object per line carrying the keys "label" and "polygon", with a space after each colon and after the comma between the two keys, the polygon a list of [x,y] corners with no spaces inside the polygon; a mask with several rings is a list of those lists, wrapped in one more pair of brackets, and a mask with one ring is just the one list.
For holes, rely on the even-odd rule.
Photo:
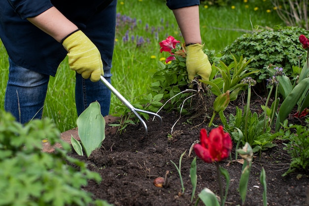
{"label": "dense rounded green shrub between lawn and bed, upper right", "polygon": [[221,60],[230,64],[233,61],[231,54],[252,59],[250,67],[253,69],[249,71],[260,70],[260,73],[252,76],[257,82],[268,78],[267,68],[270,64],[282,67],[286,76],[295,77],[298,74],[293,73],[293,67],[306,62],[306,51],[299,42],[302,34],[308,36],[309,32],[303,28],[280,26],[272,31],[244,34],[223,49]]}

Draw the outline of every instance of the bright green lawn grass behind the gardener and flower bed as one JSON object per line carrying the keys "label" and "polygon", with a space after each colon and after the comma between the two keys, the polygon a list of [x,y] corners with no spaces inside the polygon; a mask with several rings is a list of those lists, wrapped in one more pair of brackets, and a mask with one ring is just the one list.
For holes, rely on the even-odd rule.
{"label": "bright green lawn grass behind the gardener and flower bed", "polygon": [[[275,12],[254,11],[253,8],[245,8],[243,3],[236,3],[234,6],[234,9],[231,5],[208,8],[200,6],[201,34],[205,48],[220,52],[245,32],[252,31],[252,25],[273,27],[282,24]],[[131,28],[132,23],[119,21],[121,24],[116,29],[112,83],[127,100],[137,103],[140,97],[148,93],[148,86],[152,82],[151,74],[157,70],[157,61],[161,57],[167,57],[166,52],[159,52],[158,43],[169,35],[179,41],[183,39],[172,11],[165,5],[165,0],[119,0],[117,12],[121,16],[136,18],[137,23]],[[149,27],[148,30],[146,25]],[[122,39],[127,31],[130,40],[124,42]],[[137,35],[148,41],[137,46],[136,40],[131,41],[131,36]],[[4,103],[7,68],[7,54],[3,45],[0,45],[1,109]],[[56,77],[50,79],[43,110],[43,116],[53,119],[61,131],[76,126],[74,90],[74,72],[64,61]],[[111,114],[117,111],[117,105],[121,105],[121,102],[112,95]]]}

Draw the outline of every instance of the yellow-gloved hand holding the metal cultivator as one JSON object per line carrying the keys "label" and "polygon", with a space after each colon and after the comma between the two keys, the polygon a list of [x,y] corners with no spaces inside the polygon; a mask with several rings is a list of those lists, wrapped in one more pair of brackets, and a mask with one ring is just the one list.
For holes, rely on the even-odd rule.
{"label": "yellow-gloved hand holding the metal cultivator", "polygon": [[62,41],[68,51],[69,66],[84,79],[90,77],[91,82],[98,82],[104,75],[103,63],[99,49],[80,30]]}

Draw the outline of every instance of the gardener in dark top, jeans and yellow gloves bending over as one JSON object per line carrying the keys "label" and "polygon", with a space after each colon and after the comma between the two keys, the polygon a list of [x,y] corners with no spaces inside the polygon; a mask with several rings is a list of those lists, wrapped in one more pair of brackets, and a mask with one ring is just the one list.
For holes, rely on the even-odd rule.
{"label": "gardener in dark top, jeans and yellow gloves bending over", "polygon": [[[208,79],[211,66],[201,50],[198,4],[167,0],[188,44],[189,78]],[[97,100],[102,115],[108,115],[111,92],[98,81],[100,75],[111,81],[115,27],[116,0],[1,0],[0,39],[9,55],[4,109],[22,124],[41,118],[49,76],[68,55],[76,71],[77,114]]]}

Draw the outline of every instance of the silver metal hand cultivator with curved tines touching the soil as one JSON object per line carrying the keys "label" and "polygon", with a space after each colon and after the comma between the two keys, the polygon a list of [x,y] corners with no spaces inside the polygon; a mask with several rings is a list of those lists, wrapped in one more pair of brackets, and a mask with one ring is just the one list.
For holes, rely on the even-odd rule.
{"label": "silver metal hand cultivator with curved tines touching the soil", "polygon": [[145,123],[145,121],[141,118],[141,116],[137,113],[137,112],[143,112],[143,113],[147,113],[150,115],[154,115],[155,117],[157,117],[160,121],[160,126],[162,125],[162,118],[158,115],[155,114],[153,112],[149,112],[146,110],[141,110],[141,109],[136,109],[134,108],[130,102],[128,102],[117,90],[116,88],[110,83],[108,82],[102,75],[101,75],[101,82],[103,82],[115,95],[118,99],[120,99],[120,101],[131,110],[131,112],[133,112],[133,114],[141,121],[141,123],[143,124],[144,128],[145,128],[145,136],[147,136],[148,134],[148,128],[147,128],[147,124]]}

